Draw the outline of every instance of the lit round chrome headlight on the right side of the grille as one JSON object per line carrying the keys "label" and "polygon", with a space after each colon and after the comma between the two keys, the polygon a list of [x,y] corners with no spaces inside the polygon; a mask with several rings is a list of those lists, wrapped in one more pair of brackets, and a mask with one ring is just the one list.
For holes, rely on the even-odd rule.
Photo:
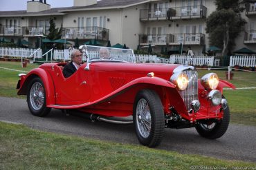
{"label": "lit round chrome headlight on the right side of the grille", "polygon": [[216,89],[219,85],[219,77],[215,73],[205,74],[201,78],[201,84],[205,88]]}

